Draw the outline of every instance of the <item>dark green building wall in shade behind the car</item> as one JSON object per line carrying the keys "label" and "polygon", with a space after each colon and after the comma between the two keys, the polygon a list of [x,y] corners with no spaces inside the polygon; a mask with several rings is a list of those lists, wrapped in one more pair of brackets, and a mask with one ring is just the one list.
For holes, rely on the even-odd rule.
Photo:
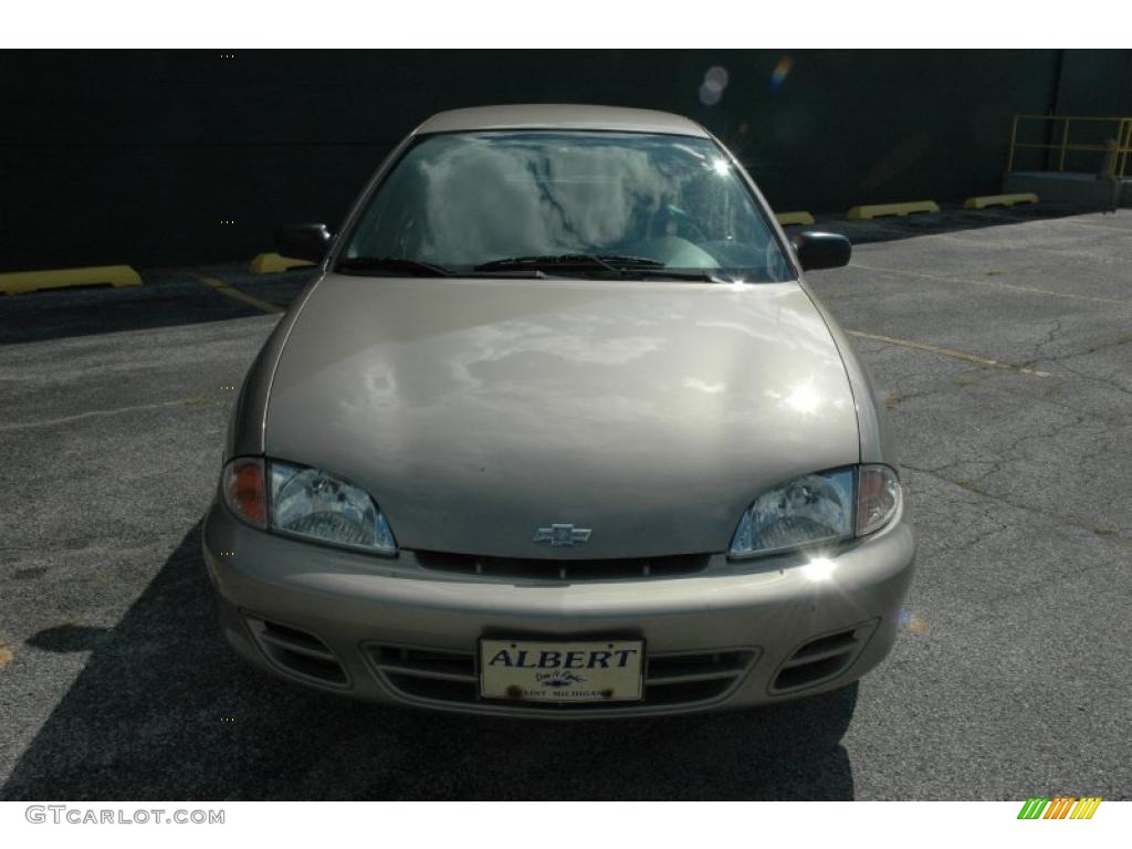
{"label": "dark green building wall in shade behind the car", "polygon": [[[280,223],[336,224],[423,118],[499,102],[687,114],[779,209],[961,199],[997,190],[1011,115],[1048,111],[1062,65],[1056,50],[233,52],[0,53],[0,269],[248,259]],[[707,106],[712,66],[729,83]]]}

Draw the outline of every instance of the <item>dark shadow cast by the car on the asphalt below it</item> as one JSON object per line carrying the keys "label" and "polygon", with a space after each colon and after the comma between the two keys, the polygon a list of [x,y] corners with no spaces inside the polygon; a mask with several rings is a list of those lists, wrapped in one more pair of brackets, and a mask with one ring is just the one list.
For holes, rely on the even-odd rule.
{"label": "dark shadow cast by the car on the asphalt below it", "polygon": [[375,706],[260,675],[224,643],[186,534],[89,651],[2,799],[851,799],[857,688],[770,709],[532,722]]}

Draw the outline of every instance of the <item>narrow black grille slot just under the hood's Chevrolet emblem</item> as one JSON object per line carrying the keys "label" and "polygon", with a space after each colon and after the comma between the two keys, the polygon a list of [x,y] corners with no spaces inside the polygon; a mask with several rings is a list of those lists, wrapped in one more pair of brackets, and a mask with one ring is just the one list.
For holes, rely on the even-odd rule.
{"label": "narrow black grille slot just under the hood's Chevrolet emblem", "polygon": [[481,557],[445,551],[415,551],[426,569],[461,575],[529,578],[535,581],[610,581],[617,578],[694,575],[707,568],[711,555],[674,555],[604,560],[539,560],[517,557]]}

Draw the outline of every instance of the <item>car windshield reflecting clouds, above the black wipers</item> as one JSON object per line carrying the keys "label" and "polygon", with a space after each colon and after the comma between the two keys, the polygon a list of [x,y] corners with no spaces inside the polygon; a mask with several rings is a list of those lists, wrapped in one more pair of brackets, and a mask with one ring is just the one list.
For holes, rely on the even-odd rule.
{"label": "car windshield reflecting clouds, above the black wipers", "polygon": [[456,274],[794,276],[712,140],[621,132],[427,136],[369,198],[338,261]]}

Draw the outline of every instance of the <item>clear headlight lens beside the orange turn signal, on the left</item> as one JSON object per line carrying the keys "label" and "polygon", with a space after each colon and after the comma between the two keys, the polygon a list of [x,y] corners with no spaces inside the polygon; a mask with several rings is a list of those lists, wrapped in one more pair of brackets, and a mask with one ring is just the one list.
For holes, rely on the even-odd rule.
{"label": "clear headlight lens beside the orange turn signal, on the left", "polygon": [[306,466],[271,461],[271,530],[297,537],[397,552],[389,523],[366,490]]}

